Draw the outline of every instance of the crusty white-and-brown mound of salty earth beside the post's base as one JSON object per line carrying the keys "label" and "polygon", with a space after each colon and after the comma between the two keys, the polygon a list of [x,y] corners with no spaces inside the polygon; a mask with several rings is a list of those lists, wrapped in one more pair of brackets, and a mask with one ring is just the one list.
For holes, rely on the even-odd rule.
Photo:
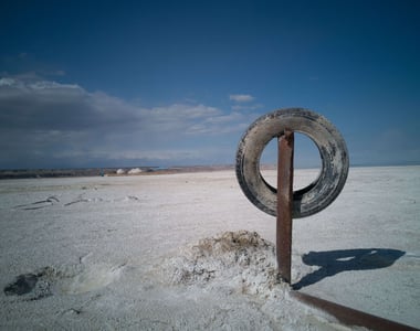
{"label": "crusty white-and-brown mound of salty earth beside the post's base", "polygon": [[182,247],[164,261],[162,271],[171,285],[223,287],[262,297],[274,295],[280,284],[274,245],[248,231],[224,232]]}

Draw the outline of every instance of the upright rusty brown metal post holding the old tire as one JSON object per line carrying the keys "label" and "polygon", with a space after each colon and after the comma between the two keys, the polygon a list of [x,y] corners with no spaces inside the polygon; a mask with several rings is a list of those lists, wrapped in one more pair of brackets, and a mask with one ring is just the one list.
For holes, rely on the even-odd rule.
{"label": "upright rusty brown metal post holding the old tire", "polygon": [[291,284],[294,134],[279,137],[276,255],[280,277]]}

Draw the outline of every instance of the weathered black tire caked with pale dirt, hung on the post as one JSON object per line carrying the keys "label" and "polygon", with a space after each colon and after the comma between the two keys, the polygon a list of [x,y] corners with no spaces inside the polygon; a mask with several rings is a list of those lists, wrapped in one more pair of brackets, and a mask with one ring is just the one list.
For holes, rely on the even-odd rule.
{"label": "weathered black tire caked with pale dirt, hung on the post", "polygon": [[348,152],[342,135],[324,116],[303,108],[280,109],[263,115],[245,131],[238,146],[237,178],[246,197],[261,211],[276,216],[277,190],[260,172],[265,146],[285,129],[308,136],[322,159],[319,177],[293,192],[294,218],[313,215],[328,206],[342,192],[348,174]]}

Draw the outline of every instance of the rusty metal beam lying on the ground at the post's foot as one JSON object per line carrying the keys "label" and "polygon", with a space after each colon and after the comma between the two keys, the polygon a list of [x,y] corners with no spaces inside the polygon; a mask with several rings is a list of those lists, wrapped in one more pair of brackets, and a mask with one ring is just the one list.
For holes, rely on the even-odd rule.
{"label": "rusty metal beam lying on the ground at the post's foot", "polygon": [[332,301],[319,299],[303,292],[291,291],[291,296],[297,300],[318,308],[347,325],[365,327],[370,330],[384,331],[419,331],[419,329],[400,324],[370,313],[366,313],[356,309],[351,309]]}

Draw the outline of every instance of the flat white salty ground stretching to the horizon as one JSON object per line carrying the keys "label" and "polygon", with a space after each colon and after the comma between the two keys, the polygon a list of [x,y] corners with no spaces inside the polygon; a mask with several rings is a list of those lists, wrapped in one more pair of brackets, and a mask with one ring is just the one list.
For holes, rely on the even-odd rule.
{"label": "flat white salty ground stretching to the horizon", "polygon": [[[0,211],[1,329],[347,328],[275,282],[275,218],[232,171],[3,180]],[[419,215],[420,167],[350,168],[294,220],[295,289],[420,328]]]}

